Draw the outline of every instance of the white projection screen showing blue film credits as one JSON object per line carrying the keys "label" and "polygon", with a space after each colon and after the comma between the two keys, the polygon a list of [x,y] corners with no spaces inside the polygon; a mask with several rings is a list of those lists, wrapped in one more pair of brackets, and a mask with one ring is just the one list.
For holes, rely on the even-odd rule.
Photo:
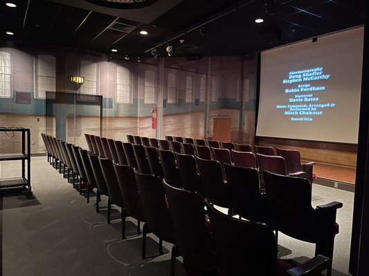
{"label": "white projection screen showing blue film credits", "polygon": [[256,136],[357,144],[363,28],[261,53]]}

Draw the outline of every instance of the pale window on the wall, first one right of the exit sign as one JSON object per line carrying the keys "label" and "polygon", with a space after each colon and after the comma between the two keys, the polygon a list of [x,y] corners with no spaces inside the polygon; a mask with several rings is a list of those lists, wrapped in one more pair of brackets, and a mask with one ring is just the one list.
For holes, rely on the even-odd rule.
{"label": "pale window on the wall, first one right of the exit sign", "polygon": [[131,72],[128,68],[116,68],[116,102],[131,102]]}

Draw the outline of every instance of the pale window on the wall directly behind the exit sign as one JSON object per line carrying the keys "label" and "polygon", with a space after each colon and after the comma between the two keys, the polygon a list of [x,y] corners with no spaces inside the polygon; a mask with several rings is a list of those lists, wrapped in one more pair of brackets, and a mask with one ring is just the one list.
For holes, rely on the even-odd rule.
{"label": "pale window on the wall directly behind the exit sign", "polygon": [[84,83],[80,87],[81,94],[97,95],[97,68],[95,62],[81,61],[80,63],[80,75],[84,77]]}

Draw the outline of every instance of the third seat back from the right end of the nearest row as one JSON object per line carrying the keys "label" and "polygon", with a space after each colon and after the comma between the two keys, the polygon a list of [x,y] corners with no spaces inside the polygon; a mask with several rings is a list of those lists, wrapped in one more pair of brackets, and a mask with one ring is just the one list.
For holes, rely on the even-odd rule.
{"label": "third seat back from the right end of the nearest row", "polygon": [[159,239],[174,244],[174,229],[165,199],[163,182],[159,177],[146,175],[136,169],[134,169],[134,177],[150,230]]}

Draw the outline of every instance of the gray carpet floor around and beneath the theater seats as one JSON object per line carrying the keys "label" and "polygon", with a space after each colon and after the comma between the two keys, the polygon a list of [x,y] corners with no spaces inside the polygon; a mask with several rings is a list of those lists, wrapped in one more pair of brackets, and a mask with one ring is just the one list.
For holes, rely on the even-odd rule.
{"label": "gray carpet floor around and beneath the theater seats", "polygon": [[[137,222],[127,219],[127,237],[121,239],[120,210],[111,213],[107,224],[107,198],[102,196],[100,213],[96,197],[79,195],[51,165],[46,157],[32,157],[32,193],[21,189],[0,190],[0,230],[2,273],[17,275],[129,275],[162,276],[170,273],[170,244],[158,256],[158,239],[150,234],[147,255],[141,259],[141,236]],[[0,177],[19,175],[16,162],[1,162]],[[348,275],[348,258],[354,194],[314,184],[313,206],[341,201],[337,222],[332,275]],[[314,256],[314,244],[299,242],[280,234],[280,257],[303,262]],[[181,257],[176,276],[186,275]]]}

